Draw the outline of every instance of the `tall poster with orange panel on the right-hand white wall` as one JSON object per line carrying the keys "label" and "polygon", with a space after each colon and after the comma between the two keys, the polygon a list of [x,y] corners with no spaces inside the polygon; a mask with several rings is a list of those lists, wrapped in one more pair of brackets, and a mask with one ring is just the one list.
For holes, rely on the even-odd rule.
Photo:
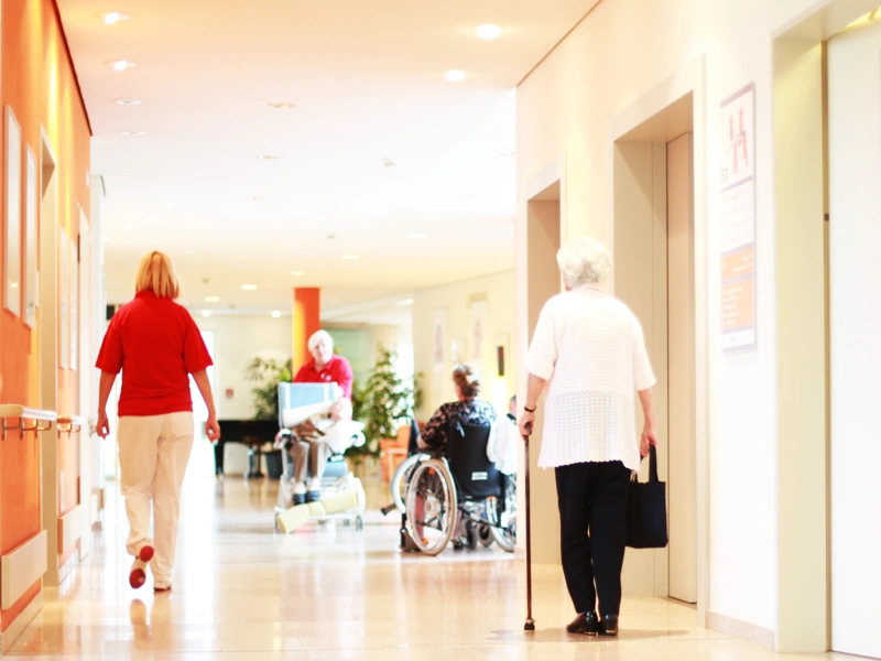
{"label": "tall poster with orange panel on the right-hand white wall", "polygon": [[721,104],[720,243],[722,354],[755,350],[755,90]]}

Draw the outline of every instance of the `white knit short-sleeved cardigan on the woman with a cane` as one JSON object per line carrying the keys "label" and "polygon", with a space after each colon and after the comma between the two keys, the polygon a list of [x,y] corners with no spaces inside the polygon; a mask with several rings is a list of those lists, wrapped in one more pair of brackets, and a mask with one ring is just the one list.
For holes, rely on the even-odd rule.
{"label": "white knit short-sleeved cardigan on the woman with a cane", "polygon": [[639,469],[634,390],[655,379],[627,305],[589,285],[557,294],[539,316],[526,370],[547,381],[540,466],[620,460]]}

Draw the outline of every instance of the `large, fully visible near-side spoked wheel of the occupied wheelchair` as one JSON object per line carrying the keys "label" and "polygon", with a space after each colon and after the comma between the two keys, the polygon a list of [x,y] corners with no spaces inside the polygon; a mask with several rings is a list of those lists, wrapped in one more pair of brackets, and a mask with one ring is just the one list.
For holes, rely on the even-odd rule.
{"label": "large, fully visible near-side spoked wheel of the occupied wheelchair", "polygon": [[416,548],[426,555],[440,553],[453,537],[457,512],[456,487],[446,463],[418,464],[406,490],[406,525]]}

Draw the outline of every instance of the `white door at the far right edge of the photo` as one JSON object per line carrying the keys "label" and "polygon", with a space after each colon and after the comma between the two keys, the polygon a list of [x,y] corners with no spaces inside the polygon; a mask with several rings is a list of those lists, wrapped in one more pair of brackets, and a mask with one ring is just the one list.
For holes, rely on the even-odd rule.
{"label": "white door at the far right edge of the photo", "polygon": [[833,649],[881,658],[881,23],[829,41],[828,85]]}

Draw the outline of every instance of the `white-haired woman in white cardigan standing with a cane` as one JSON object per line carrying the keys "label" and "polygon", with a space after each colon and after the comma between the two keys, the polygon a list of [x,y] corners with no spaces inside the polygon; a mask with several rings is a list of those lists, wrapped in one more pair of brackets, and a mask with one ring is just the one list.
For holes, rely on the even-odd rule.
{"label": "white-haired woman in white cardigan standing with a cane", "polygon": [[[606,248],[580,237],[557,263],[566,292],[539,316],[520,431],[532,432],[546,388],[539,465],[556,474],[563,573],[578,614],[566,629],[617,636],[631,470],[657,443],[655,380],[639,321],[602,290],[611,271]],[[634,390],[645,420],[639,442]]]}

